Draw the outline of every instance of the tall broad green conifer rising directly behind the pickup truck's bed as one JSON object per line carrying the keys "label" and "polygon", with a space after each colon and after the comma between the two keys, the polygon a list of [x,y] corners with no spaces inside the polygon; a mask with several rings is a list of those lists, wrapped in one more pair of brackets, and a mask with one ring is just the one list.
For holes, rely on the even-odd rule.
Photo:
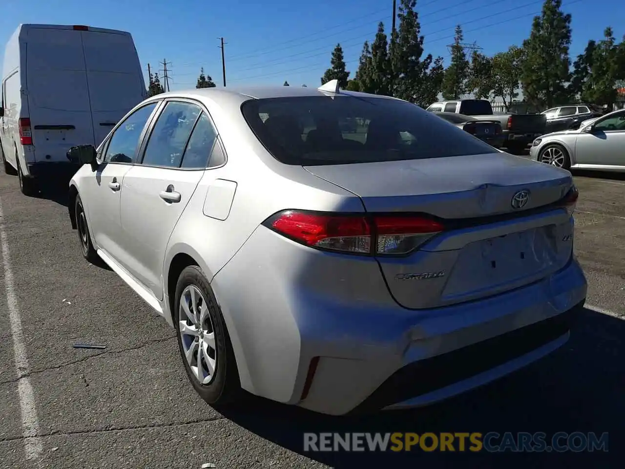
{"label": "tall broad green conifer rising directly behind the pickup truck's bed", "polygon": [[551,108],[569,100],[569,46],[571,15],[561,10],[562,0],[545,0],[541,16],[523,41],[526,60],[522,66],[523,93],[534,106]]}

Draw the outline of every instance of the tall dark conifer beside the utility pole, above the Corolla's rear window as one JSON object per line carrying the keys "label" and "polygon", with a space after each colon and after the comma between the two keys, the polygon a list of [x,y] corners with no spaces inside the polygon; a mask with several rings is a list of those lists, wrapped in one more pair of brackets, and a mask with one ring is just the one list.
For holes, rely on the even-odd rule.
{"label": "tall dark conifer beside the utility pole, above the Corolla's rear window", "polygon": [[[432,89],[441,78],[442,58],[423,55],[423,36],[419,16],[414,11],[416,0],[399,1],[399,26],[391,38],[392,96],[419,106],[429,106]],[[434,62],[432,69],[432,62]],[[440,91],[437,90],[436,94]],[[433,100],[436,101],[436,98]]]}

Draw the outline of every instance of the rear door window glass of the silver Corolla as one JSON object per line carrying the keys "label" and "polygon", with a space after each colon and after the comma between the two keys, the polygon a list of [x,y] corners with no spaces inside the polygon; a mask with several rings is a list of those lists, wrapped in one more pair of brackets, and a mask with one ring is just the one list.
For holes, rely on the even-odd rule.
{"label": "rear door window glass of the silver Corolla", "polygon": [[194,104],[167,103],[156,119],[141,164],[179,168],[200,113],[201,109]]}

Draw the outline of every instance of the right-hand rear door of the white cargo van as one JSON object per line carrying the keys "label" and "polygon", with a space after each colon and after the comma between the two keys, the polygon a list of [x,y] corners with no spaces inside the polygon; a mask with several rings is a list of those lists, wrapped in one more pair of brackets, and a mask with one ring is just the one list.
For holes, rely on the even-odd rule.
{"label": "right-hand rear door of the white cargo van", "polygon": [[97,30],[81,34],[98,146],[113,126],[146,98],[146,88],[130,34]]}

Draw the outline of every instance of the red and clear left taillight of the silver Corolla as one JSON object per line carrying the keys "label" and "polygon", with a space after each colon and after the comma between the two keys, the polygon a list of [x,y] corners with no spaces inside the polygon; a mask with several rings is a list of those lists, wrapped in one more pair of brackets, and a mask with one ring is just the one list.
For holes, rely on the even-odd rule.
{"label": "red and clear left taillight of the silver Corolla", "polygon": [[436,220],[404,215],[345,215],[285,210],[264,226],[302,245],[359,255],[405,255],[443,231]]}

